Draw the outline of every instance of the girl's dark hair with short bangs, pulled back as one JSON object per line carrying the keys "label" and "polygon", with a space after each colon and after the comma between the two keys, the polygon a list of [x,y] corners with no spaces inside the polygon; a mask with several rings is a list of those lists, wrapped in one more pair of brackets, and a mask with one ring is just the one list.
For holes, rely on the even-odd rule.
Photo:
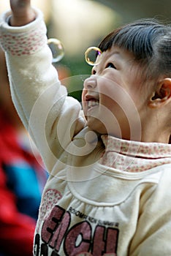
{"label": "girl's dark hair with short bangs, pulled back", "polygon": [[129,23],[107,35],[99,43],[106,51],[113,45],[129,50],[134,60],[144,67],[146,78],[171,77],[171,27],[155,19]]}

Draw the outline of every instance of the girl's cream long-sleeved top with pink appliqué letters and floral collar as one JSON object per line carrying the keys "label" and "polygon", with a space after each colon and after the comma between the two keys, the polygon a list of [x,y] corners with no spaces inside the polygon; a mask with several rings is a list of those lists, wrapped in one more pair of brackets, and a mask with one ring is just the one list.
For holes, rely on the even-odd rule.
{"label": "girl's cream long-sleeved top with pink appliqu\u00e9 letters and floral collar", "polygon": [[34,255],[171,255],[171,146],[90,131],[36,11],[22,27],[8,26],[6,13],[0,27],[12,99],[50,173]]}

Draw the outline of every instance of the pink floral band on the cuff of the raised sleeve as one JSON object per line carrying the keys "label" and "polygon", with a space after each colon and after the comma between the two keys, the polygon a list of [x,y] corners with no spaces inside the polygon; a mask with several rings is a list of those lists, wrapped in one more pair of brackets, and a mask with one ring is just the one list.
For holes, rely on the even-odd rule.
{"label": "pink floral band on the cuff of the raised sleeve", "polygon": [[20,34],[1,31],[1,45],[5,51],[10,52],[13,56],[36,53],[45,43],[47,43],[47,37],[44,26]]}

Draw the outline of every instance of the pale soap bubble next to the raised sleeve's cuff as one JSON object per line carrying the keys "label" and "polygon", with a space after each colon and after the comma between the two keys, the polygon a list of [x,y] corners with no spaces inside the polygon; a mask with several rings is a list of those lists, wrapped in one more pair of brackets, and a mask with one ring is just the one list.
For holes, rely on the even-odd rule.
{"label": "pale soap bubble next to the raised sleeve's cuff", "polygon": [[55,63],[61,61],[64,57],[64,46],[61,41],[56,38],[50,38],[47,40],[47,45],[53,54],[52,62]]}

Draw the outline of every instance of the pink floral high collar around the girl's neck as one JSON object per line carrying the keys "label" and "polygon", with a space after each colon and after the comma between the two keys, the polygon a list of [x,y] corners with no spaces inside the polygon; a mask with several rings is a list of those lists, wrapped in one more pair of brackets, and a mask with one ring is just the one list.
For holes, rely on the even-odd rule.
{"label": "pink floral high collar around the girl's neck", "polygon": [[100,159],[102,165],[128,172],[141,172],[171,163],[170,144],[138,143],[107,135],[102,135],[102,140],[106,147]]}

